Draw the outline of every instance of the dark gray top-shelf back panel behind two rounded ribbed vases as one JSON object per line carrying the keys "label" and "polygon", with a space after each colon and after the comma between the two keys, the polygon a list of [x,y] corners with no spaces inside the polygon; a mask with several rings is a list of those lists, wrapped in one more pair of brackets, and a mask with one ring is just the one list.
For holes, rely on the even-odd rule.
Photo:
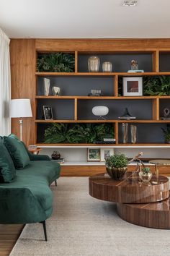
{"label": "dark gray top-shelf back panel behind two rounded ribbed vases", "polygon": [[[100,67],[99,72],[102,72],[102,62],[112,62],[113,72],[127,72],[130,67],[130,63],[133,59],[138,61],[139,69],[144,69],[145,72],[152,72],[152,54],[94,54],[99,56]],[[78,71],[89,72],[88,59],[93,54],[81,54],[78,59]]]}

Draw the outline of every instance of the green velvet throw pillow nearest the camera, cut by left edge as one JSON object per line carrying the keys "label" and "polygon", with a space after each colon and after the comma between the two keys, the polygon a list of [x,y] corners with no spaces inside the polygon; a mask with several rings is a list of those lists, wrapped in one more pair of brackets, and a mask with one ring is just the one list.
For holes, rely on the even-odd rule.
{"label": "green velvet throw pillow nearest the camera, cut by left edge", "polygon": [[12,158],[0,138],[0,183],[12,182],[15,174]]}

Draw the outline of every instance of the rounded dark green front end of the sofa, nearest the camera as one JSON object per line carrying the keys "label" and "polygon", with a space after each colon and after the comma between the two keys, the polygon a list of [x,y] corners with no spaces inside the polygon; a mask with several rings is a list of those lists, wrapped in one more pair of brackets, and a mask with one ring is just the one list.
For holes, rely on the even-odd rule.
{"label": "rounded dark green front end of the sofa, nearest the camera", "polygon": [[36,223],[48,217],[30,189],[0,186],[0,223]]}

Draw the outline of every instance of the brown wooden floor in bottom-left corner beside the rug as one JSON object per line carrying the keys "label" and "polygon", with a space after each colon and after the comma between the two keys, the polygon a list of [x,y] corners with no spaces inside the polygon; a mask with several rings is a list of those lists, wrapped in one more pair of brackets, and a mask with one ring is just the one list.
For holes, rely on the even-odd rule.
{"label": "brown wooden floor in bottom-left corner beside the rug", "polygon": [[0,224],[0,256],[8,256],[17,242],[24,225]]}

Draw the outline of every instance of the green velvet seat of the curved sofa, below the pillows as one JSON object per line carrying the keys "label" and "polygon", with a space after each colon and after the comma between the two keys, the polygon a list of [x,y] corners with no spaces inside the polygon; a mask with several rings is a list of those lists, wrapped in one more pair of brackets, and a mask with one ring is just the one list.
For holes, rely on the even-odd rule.
{"label": "green velvet seat of the curved sofa, below the pillows", "polygon": [[[48,211],[53,205],[53,193],[49,185],[58,179],[60,166],[51,161],[30,161],[22,170],[16,171],[14,182],[0,184],[1,187],[12,189],[29,189],[37,199],[41,208]],[[22,202],[15,202],[21,204]]]}

